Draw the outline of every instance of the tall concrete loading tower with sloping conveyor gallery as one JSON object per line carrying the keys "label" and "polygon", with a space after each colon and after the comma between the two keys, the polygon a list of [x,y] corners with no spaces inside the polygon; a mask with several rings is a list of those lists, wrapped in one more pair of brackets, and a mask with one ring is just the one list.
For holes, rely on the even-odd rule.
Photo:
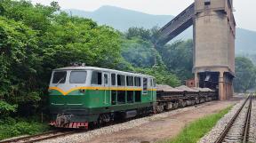
{"label": "tall concrete loading tower with sloping conveyor gallery", "polygon": [[193,26],[196,87],[219,91],[219,99],[233,95],[236,21],[233,0],[195,0],[159,30],[156,44],[166,44]]}

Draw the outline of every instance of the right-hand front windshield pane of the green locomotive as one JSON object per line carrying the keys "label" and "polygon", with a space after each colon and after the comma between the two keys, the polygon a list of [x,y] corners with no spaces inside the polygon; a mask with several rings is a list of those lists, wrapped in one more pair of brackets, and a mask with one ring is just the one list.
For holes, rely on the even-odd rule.
{"label": "right-hand front windshield pane of the green locomotive", "polygon": [[71,71],[69,83],[85,83],[86,75],[86,71]]}

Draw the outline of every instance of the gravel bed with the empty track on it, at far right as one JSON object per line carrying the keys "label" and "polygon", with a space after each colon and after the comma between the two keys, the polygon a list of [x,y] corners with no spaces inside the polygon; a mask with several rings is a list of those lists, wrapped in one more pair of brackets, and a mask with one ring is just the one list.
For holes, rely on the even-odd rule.
{"label": "gravel bed with the empty track on it, at far right", "polygon": [[252,97],[240,101],[198,143],[255,142],[255,107]]}

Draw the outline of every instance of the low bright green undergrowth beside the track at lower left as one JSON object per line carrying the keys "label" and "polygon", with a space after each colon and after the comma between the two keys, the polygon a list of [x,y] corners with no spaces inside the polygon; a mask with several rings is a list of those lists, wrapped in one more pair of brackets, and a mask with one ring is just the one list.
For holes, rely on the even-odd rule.
{"label": "low bright green undergrowth beside the track at lower left", "polygon": [[47,123],[39,123],[35,119],[25,118],[5,118],[0,119],[0,140],[17,137],[20,135],[33,135],[44,131],[49,131]]}

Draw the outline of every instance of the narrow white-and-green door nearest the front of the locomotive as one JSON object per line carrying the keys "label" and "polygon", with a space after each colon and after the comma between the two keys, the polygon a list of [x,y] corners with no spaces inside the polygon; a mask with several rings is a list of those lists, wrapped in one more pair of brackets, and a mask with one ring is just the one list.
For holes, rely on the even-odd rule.
{"label": "narrow white-and-green door nearest the front of the locomotive", "polygon": [[104,104],[110,103],[110,75],[107,72],[103,72],[103,86],[104,86]]}

